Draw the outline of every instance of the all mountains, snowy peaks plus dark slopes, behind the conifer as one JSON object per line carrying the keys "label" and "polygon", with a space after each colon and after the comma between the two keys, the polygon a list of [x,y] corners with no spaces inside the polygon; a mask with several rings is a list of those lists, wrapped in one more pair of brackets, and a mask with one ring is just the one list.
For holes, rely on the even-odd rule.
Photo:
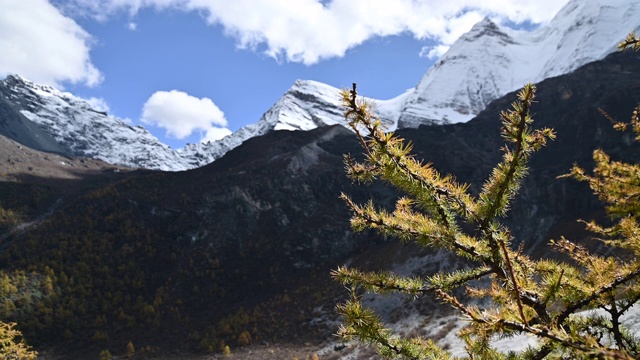
{"label": "all mountains, snowy peaks plus dark slopes, behind the conifer", "polygon": [[[634,30],[640,0],[570,1],[531,32],[485,19],[416,87],[376,100],[379,116],[418,158],[477,193],[500,160],[500,111],[524,83],[537,83],[535,126],[554,128],[558,140],[533,158],[507,223],[534,256],[561,235],[593,247],[576,220],[604,217],[602,205],[588,187],[557,177],[573,163],[590,168],[597,148],[640,159],[633,137],[598,110],[628,119],[640,102],[640,55],[616,51]],[[17,285],[0,297],[0,315],[45,358],[124,355],[130,342],[151,358],[226,346],[237,358],[368,356],[334,344],[334,304],[346,291],[331,269],[424,275],[461,264],[350,231],[341,192],[383,205],[398,194],[345,176],[343,154],[362,150],[343,112],[338,89],[299,80],[258,122],[173,150],[73,94],[8,76],[0,281]],[[369,305],[406,333],[446,343],[455,332],[457,320],[433,298]]]}

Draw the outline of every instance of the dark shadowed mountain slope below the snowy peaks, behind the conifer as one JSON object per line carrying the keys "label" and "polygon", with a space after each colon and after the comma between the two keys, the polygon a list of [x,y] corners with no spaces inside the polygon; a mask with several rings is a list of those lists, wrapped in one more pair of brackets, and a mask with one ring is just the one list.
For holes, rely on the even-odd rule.
{"label": "dark shadowed mountain slope below the snowy peaks, behind the conifer", "polygon": [[[554,127],[558,140],[533,158],[509,214],[527,252],[547,253],[546,240],[560,234],[592,244],[575,220],[601,216],[601,205],[583,184],[556,176],[574,162],[589,168],[595,148],[614,159],[640,158],[633,136],[615,132],[598,112],[627,119],[640,100],[638,72],[640,55],[613,54],[538,84],[535,124]],[[514,96],[467,123],[397,134],[413,141],[419,158],[474,192],[499,161],[498,113]],[[330,281],[330,269],[350,263],[424,275],[452,265],[441,254],[349,231],[341,191],[382,205],[396,194],[381,184],[352,184],[344,153],[362,153],[353,134],[325,126],[268,132],[195,170],[90,182],[95,185],[62,200],[61,188],[33,176],[0,182],[4,210],[19,215],[0,235],[0,268],[34,274],[36,289],[28,290],[38,299],[9,318],[39,346],[62,343],[64,351],[89,351],[84,357],[105,348],[122,352],[129,341],[150,351],[219,351],[220,344],[237,348],[247,341],[331,339],[333,304],[345,291]],[[72,179],[61,186],[78,188]],[[37,226],[15,230],[34,219]],[[38,281],[49,290],[36,292]],[[11,299],[25,301],[18,295]],[[408,303],[425,319],[433,310],[429,298],[409,301],[386,304],[386,320],[402,326]],[[415,330],[436,336],[428,324],[416,322]]]}

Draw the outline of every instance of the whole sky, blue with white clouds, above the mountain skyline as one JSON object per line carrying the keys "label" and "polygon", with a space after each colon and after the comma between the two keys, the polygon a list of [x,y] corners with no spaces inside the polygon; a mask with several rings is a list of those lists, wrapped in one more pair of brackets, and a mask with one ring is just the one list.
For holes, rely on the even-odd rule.
{"label": "whole sky, blue with white clouds, above the mountain skyline", "polygon": [[0,0],[0,76],[91,99],[179,148],[258,121],[296,79],[392,98],[483,17],[530,25],[564,2]]}

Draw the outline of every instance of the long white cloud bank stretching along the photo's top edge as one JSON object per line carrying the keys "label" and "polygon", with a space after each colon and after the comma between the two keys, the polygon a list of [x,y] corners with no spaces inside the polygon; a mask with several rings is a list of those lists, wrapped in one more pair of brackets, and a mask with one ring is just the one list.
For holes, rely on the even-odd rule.
{"label": "long white cloud bank stretching along the photo's top edge", "polygon": [[[94,16],[140,9],[197,11],[221,25],[240,48],[285,61],[313,64],[340,57],[374,38],[401,33],[431,39],[437,56],[485,16],[545,22],[568,0],[75,0]],[[433,51],[431,51],[433,50]]]}

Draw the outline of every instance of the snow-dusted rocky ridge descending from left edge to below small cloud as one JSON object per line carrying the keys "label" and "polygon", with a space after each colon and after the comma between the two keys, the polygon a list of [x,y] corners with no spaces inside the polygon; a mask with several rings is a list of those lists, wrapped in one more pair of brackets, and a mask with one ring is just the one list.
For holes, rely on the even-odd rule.
{"label": "snow-dusted rocky ridge descending from left edge to below small cloud", "polygon": [[69,155],[135,168],[189,168],[187,161],[145,128],[95,110],[68,92],[11,75],[0,81],[0,94]]}

